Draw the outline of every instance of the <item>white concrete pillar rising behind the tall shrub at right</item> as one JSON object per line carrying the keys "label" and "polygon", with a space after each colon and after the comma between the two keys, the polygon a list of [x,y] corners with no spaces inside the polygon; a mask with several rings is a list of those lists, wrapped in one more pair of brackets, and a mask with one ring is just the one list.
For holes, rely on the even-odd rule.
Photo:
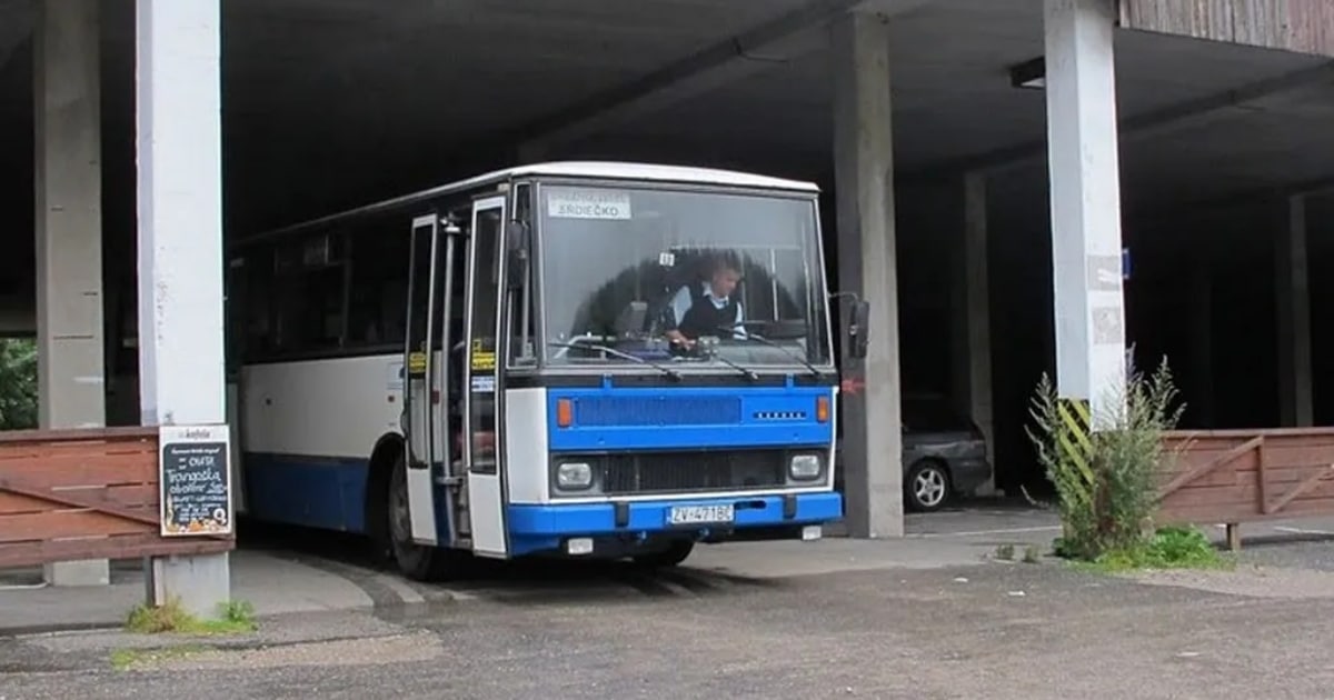
{"label": "white concrete pillar rising behind the tall shrub at right", "polygon": [[1111,0],[1045,0],[1057,388],[1094,424],[1126,384]]}

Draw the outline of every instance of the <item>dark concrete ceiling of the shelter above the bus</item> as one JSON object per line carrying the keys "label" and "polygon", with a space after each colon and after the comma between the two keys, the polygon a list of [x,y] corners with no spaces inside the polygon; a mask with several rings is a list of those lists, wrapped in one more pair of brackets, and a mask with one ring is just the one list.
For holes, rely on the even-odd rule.
{"label": "dark concrete ceiling of the shelter above the bus", "polygon": [[[107,140],[121,151],[132,144],[129,5],[104,5]],[[1006,188],[1041,196],[1043,96],[1013,88],[1006,71],[1042,53],[1041,3],[879,5],[896,13],[900,176],[986,167]],[[0,32],[0,60],[12,56],[0,65],[5,135],[31,133],[31,56],[21,57],[31,44],[13,31],[31,7],[0,0],[0,27],[8,28]],[[507,147],[567,125],[560,117],[578,113],[571,108],[596,113],[598,105],[615,105],[616,91],[636,81],[656,80],[670,99],[600,121],[548,153],[823,177],[834,68],[819,20],[840,7],[838,0],[227,0],[229,232],[503,165],[515,157]],[[787,31],[802,19],[814,24]],[[719,57],[727,51],[730,60]],[[1322,65],[1313,56],[1121,32],[1127,207],[1334,176],[1327,128],[1334,73],[1311,72]],[[702,87],[672,96],[690,83]],[[620,97],[644,92],[622,89]],[[7,171],[31,179],[29,148],[5,148],[0,157]]]}

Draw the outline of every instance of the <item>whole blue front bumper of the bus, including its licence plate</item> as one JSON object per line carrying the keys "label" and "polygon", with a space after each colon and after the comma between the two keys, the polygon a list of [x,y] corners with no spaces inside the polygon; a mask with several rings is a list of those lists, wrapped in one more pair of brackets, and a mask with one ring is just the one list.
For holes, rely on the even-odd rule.
{"label": "whole blue front bumper of the bus, including its licence plate", "polygon": [[[790,493],[727,499],[678,497],[654,501],[510,505],[510,552],[568,552],[570,540],[591,540],[580,555],[630,556],[663,540],[719,543],[799,540],[808,525],[843,517],[840,493]],[[675,521],[674,521],[675,520]],[[803,532],[804,531],[804,532]]]}

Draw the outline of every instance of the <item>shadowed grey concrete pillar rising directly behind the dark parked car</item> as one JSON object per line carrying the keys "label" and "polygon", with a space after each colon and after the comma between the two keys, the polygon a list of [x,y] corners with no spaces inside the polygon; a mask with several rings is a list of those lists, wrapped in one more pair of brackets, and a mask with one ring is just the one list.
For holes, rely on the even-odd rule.
{"label": "shadowed grey concrete pillar rising directly behind the dark parked car", "polygon": [[[963,177],[963,221],[954,264],[956,337],[954,352],[959,403],[987,440],[995,473],[995,429],[991,416],[991,288],[987,277],[987,180],[980,172]],[[995,493],[995,477],[976,495]]]}

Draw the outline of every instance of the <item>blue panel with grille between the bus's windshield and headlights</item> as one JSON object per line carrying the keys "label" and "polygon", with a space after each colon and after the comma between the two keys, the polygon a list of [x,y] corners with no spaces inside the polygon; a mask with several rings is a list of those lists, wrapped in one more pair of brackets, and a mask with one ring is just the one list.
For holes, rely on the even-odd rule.
{"label": "blue panel with grille between the bus's windshield and headlights", "polygon": [[[547,392],[552,451],[818,445],[834,440],[816,420],[819,396],[832,389],[552,389]],[[560,400],[572,425],[558,424]]]}

